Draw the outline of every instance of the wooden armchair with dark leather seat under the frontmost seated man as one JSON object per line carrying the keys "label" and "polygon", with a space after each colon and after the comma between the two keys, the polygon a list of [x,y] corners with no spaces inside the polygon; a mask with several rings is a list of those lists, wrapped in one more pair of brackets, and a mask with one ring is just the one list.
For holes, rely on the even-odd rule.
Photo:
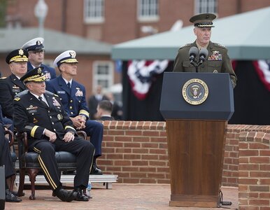
{"label": "wooden armchair with dark leather seat under the frontmost seated man", "polygon": [[[86,133],[79,131],[78,135],[86,140]],[[29,200],[35,200],[35,181],[38,172],[41,170],[41,166],[38,162],[38,153],[28,152],[27,145],[27,133],[17,133],[15,138],[18,142],[19,152],[19,167],[20,167],[20,184],[18,190],[18,196],[23,195],[24,190],[24,176],[27,173],[31,182],[31,195]],[[55,158],[57,160],[58,169],[60,171],[76,169],[76,156],[66,152],[58,151],[55,152]]]}

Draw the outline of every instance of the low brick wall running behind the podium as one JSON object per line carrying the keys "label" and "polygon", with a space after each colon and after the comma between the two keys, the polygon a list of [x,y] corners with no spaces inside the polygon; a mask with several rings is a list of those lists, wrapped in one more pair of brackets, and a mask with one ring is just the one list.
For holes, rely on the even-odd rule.
{"label": "low brick wall running behind the podium", "polygon": [[[103,123],[103,155],[98,165],[106,174],[118,174],[120,183],[169,183],[165,122]],[[228,125],[222,186],[239,186],[239,146],[243,149],[239,137],[242,132],[270,133],[270,126]]]}

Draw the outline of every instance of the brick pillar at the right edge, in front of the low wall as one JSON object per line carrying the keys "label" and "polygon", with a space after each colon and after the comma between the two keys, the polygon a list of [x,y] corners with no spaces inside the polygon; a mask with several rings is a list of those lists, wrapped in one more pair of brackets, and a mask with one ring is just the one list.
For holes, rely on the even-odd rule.
{"label": "brick pillar at the right edge, in front of the low wall", "polygon": [[239,136],[239,207],[270,209],[270,134],[244,131]]}

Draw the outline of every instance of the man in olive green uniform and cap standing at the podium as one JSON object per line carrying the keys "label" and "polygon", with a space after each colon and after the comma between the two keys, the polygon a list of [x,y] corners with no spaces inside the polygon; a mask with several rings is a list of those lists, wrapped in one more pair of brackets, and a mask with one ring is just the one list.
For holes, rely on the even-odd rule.
{"label": "man in olive green uniform and cap standing at the podium", "polygon": [[232,69],[227,48],[210,41],[215,18],[216,16],[211,13],[202,13],[190,18],[190,22],[194,23],[193,31],[197,39],[194,43],[179,48],[173,71],[229,73],[232,85],[235,87],[237,77]]}

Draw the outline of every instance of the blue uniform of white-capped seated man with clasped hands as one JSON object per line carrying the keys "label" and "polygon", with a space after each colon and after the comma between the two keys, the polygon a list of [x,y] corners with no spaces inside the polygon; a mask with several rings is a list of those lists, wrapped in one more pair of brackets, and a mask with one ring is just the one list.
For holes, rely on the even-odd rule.
{"label": "blue uniform of white-capped seated man with clasped hands", "polygon": [[79,115],[86,117],[85,128],[87,137],[91,137],[91,142],[96,149],[94,156],[101,156],[101,144],[103,138],[103,125],[95,120],[89,119],[87,102],[85,100],[85,87],[76,80],[72,80],[71,90],[67,87],[62,76],[58,76],[46,83],[46,90],[59,95],[64,110],[69,117],[73,118]]}

